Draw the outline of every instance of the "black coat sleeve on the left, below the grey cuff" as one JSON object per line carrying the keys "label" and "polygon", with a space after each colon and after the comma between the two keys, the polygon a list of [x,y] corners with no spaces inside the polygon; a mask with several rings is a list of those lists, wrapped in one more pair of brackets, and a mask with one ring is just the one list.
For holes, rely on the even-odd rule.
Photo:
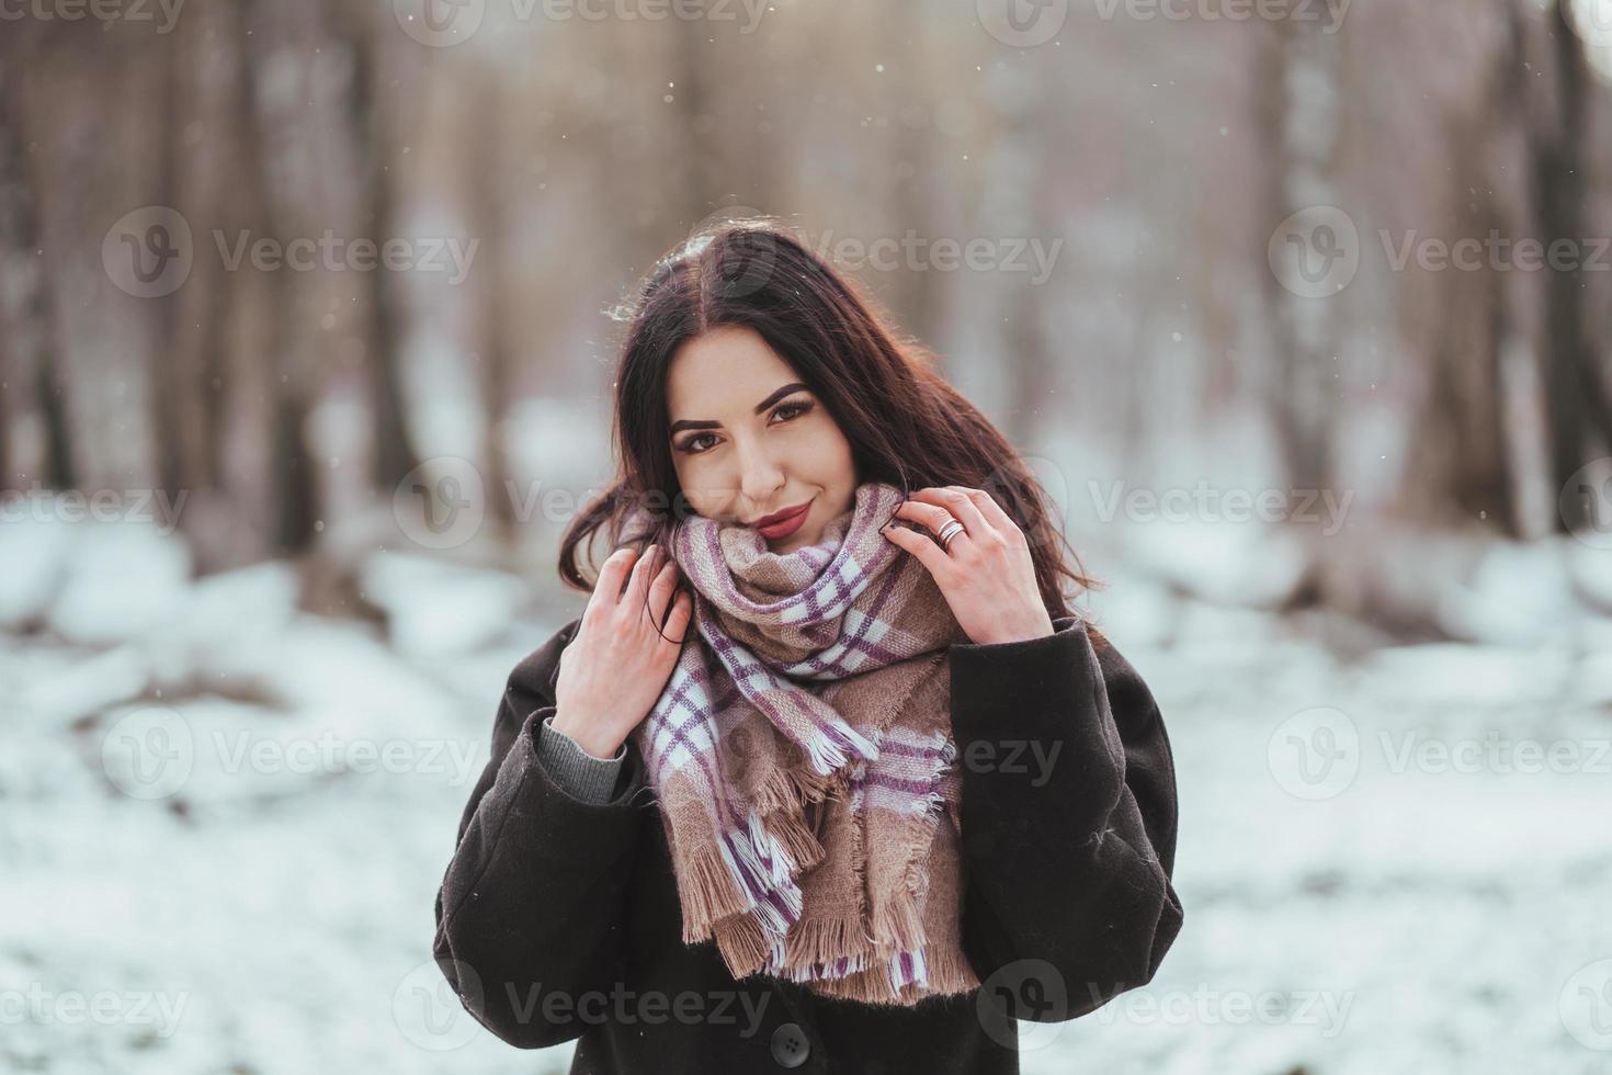
{"label": "black coat sleeve on the left, below the grey cuff", "polygon": [[477,1022],[522,1049],[580,1036],[600,1007],[587,994],[622,980],[643,817],[637,746],[603,804],[572,798],[538,761],[537,735],[555,712],[548,680],[569,633],[509,674],[490,761],[437,891],[437,965]]}

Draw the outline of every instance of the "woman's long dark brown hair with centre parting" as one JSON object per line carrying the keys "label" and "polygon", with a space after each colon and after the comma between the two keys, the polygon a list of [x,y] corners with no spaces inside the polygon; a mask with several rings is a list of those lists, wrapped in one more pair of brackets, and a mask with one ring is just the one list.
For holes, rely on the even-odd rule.
{"label": "woman's long dark brown hair with centre parting", "polygon": [[[1067,596],[1103,585],[1053,525],[1041,484],[1008,438],[935,372],[935,356],[899,335],[893,319],[853,279],[819,259],[772,218],[725,221],[664,255],[622,316],[627,334],[616,371],[617,475],[561,538],[559,577],[592,591],[598,569],[582,554],[600,527],[609,548],[656,542],[693,514],[672,466],[666,372],[677,348],[713,329],[756,330],[817,396],[851,443],[858,477],[911,495],[930,485],[982,488],[1019,524],[1030,545],[1048,616],[1070,616]],[[634,506],[656,524],[622,540]],[[1067,550],[1077,569],[1066,566]],[[1074,585],[1066,596],[1064,582]],[[1082,614],[1090,619],[1088,614]]]}

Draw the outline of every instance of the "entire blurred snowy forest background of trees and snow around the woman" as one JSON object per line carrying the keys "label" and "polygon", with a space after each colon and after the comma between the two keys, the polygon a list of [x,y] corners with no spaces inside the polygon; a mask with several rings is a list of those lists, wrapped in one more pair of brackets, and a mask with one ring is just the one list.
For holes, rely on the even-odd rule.
{"label": "entire blurred snowy forest background of trees and snow around the woman", "polygon": [[1175,746],[1186,927],[1025,1070],[1607,1070],[1612,0],[671,11],[0,0],[0,1067],[564,1070],[432,899],[611,311],[761,211]]}

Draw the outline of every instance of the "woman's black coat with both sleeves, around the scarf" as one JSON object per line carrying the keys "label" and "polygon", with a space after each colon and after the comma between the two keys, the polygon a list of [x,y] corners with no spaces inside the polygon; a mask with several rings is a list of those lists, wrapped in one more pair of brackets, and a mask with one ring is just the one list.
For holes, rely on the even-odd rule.
{"label": "woman's black coat with both sleeves, around the scarf", "polygon": [[1008,1073],[1009,1014],[1062,1022],[1146,985],[1182,928],[1159,708],[1099,632],[1061,617],[1045,638],[951,646],[962,941],[983,986],[896,1007],[735,982],[714,941],[682,941],[637,745],[600,806],[538,762],[534,737],[579,624],[509,674],[437,893],[437,965],[503,1041],[575,1040],[572,1075]]}

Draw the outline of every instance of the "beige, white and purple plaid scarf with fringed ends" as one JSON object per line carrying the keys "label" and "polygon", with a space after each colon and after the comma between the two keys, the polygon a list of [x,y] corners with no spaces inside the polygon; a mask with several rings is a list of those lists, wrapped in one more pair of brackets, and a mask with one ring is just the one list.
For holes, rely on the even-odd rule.
{"label": "beige, white and purple plaid scarf with fringed ends", "polygon": [[961,780],[929,571],[879,533],[901,490],[864,482],[817,545],[682,521],[698,645],[634,730],[666,825],[683,941],[735,978],[916,1004],[980,985],[962,954]]}

